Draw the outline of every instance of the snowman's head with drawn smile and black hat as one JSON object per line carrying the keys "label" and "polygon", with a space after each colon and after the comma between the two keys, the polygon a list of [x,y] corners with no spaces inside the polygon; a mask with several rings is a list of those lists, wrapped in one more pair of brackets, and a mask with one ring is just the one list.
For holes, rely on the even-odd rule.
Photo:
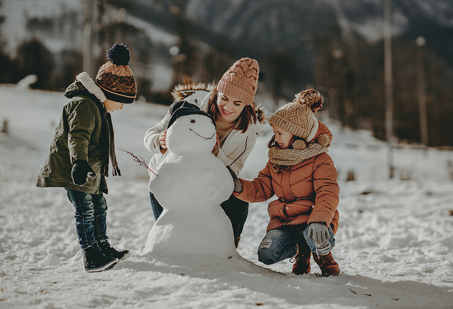
{"label": "snowman's head with drawn smile and black hat", "polygon": [[165,138],[168,150],[177,154],[210,153],[216,144],[213,118],[186,101],[173,105]]}

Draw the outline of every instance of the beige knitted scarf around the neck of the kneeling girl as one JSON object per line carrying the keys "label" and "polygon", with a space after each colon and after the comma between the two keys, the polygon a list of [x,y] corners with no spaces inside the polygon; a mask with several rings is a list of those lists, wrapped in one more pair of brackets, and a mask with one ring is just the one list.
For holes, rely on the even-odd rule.
{"label": "beige knitted scarf around the neck of the kneeling girl", "polygon": [[278,146],[269,148],[267,154],[274,172],[279,172],[285,166],[297,165],[300,162],[317,156],[320,153],[327,152],[326,146],[313,141],[308,145],[303,140],[296,140],[292,148],[281,149]]}

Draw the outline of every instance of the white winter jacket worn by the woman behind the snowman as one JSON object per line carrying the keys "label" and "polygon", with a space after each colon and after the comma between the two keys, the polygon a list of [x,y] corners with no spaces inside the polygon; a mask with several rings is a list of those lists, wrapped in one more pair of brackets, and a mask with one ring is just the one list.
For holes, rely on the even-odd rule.
{"label": "white winter jacket worn by the woman behind the snowman", "polygon": [[[184,100],[198,105],[203,111],[207,111],[210,92],[205,90],[192,92],[193,94]],[[155,153],[149,162],[149,168],[154,171],[167,153],[162,154],[160,151],[159,134],[167,129],[170,117],[171,115],[167,113],[156,126],[149,128],[148,131],[146,131],[143,139],[146,149]],[[257,121],[257,123],[249,124],[249,128],[245,133],[241,132],[241,130],[231,131],[226,137],[222,147],[219,149],[219,154],[217,154],[217,158],[219,158],[225,166],[230,166],[236,175],[243,169],[250,152],[255,146],[257,137],[263,135],[263,128],[261,123]]]}

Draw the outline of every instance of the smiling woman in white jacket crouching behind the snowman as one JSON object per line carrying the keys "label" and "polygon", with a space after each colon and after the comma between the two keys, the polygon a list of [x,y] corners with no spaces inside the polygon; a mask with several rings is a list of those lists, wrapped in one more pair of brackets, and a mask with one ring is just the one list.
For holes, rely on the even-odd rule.
{"label": "smiling woman in white jacket crouching behind the snowman", "polygon": [[[237,60],[216,85],[195,83],[176,86],[172,91],[174,101],[185,100],[196,104],[216,121],[218,142],[213,153],[225,166],[238,175],[243,169],[257,137],[263,135],[264,111],[255,104],[258,83],[258,62],[251,58]],[[170,113],[144,136],[145,147],[155,153],[149,168],[156,168],[165,158],[167,147],[165,133]],[[154,217],[157,220],[162,206],[149,188]],[[249,204],[231,197],[221,204],[231,221],[234,244],[239,243],[240,233],[249,212]]]}

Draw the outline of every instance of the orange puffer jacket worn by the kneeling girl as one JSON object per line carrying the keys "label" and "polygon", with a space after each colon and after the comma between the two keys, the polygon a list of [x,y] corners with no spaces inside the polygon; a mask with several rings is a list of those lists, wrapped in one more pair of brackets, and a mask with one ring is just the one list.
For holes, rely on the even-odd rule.
{"label": "orange puffer jacket worn by the kneeling girl", "polygon": [[[324,130],[327,131],[322,132]],[[322,133],[331,137],[330,131],[320,123],[316,136]],[[234,196],[241,200],[257,203],[268,200],[274,194],[278,197],[267,207],[270,222],[266,232],[282,226],[312,222],[324,222],[332,227],[334,234],[337,232],[340,188],[337,170],[327,153],[318,154],[294,166],[285,166],[279,172],[274,172],[269,160],[257,178],[240,181],[244,190],[240,194],[234,193]]]}

